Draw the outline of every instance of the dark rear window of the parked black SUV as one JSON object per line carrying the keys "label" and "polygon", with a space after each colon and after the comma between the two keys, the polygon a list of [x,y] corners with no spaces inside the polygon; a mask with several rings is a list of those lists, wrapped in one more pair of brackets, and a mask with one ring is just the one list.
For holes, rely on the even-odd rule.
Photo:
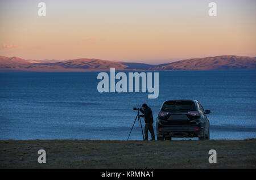
{"label": "dark rear window of the parked black SUV", "polygon": [[168,101],[164,103],[162,112],[189,112],[195,111],[196,106],[192,101]]}

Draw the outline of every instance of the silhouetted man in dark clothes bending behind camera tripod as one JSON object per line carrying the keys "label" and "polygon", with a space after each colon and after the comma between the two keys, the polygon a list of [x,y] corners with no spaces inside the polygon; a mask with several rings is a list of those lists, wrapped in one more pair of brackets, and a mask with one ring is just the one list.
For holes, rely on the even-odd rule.
{"label": "silhouetted man in dark clothes bending behind camera tripod", "polygon": [[140,109],[141,112],[144,115],[139,115],[140,117],[144,118],[145,121],[145,128],[144,128],[144,134],[145,134],[145,140],[147,139],[147,131],[149,130],[151,133],[151,140],[155,140],[155,133],[154,133],[154,128],[153,128],[153,113],[152,110],[150,109],[150,107],[148,107],[146,104],[142,105],[142,108]]}

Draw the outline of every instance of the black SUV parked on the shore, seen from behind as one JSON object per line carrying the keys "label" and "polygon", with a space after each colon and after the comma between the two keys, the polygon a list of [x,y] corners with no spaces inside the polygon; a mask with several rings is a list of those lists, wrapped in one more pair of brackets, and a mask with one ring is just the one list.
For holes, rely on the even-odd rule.
{"label": "black SUV parked on the shore, seen from behind", "polygon": [[161,106],[156,119],[158,140],[174,138],[210,139],[210,124],[204,110],[197,100],[168,100]]}

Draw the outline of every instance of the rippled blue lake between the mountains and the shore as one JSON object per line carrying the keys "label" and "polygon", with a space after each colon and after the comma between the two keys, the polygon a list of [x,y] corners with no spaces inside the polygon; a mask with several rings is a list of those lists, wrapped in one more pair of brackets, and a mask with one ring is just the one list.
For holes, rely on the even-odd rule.
{"label": "rippled blue lake between the mountains and the shore", "polygon": [[[155,121],[169,99],[199,100],[211,110],[211,139],[256,138],[256,71],[159,72],[155,99],[148,92],[99,93],[97,75],[0,73],[0,139],[126,140],[134,106],[148,104]],[[138,122],[130,139],[142,140]]]}

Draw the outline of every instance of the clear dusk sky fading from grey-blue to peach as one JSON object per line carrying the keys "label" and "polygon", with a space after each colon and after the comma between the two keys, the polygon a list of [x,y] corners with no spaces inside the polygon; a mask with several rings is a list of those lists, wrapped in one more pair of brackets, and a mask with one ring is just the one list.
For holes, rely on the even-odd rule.
{"label": "clear dusk sky fading from grey-blue to peach", "polygon": [[[38,16],[38,3],[46,16]],[[215,2],[217,16],[209,16]],[[256,1],[0,0],[0,55],[168,63],[256,56]]]}

